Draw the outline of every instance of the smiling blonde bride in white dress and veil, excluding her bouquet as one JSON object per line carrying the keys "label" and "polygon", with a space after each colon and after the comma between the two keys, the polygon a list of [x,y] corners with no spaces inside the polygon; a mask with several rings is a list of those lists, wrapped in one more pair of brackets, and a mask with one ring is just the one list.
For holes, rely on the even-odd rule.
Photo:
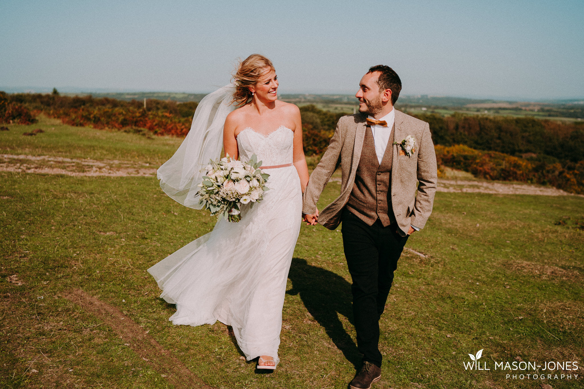
{"label": "smiling blonde bride in white dress and veil, excluding her bouquet", "polygon": [[300,110],[277,100],[276,71],[263,55],[241,61],[234,79],[201,100],[189,135],[158,169],[160,185],[181,204],[200,208],[200,170],[220,156],[222,139],[226,155],[258,156],[270,174],[270,190],[253,208],[241,207],[240,222],[219,220],[212,232],[148,272],[161,297],[176,304],[173,324],[231,325],[248,360],[259,357],[258,369],[276,369],[288,269],[308,183]]}

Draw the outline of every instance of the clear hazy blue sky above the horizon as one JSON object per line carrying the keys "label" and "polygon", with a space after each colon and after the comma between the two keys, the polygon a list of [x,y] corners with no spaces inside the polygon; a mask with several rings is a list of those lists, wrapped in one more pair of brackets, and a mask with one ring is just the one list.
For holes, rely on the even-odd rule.
{"label": "clear hazy blue sky above the horizon", "polygon": [[281,93],[584,97],[584,1],[0,1],[0,86],[210,92],[238,57]]}

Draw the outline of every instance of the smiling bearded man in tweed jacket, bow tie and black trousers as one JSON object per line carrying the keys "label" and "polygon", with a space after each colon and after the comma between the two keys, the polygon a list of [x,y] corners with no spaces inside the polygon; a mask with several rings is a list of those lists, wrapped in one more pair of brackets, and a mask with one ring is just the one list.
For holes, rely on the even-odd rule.
{"label": "smiling bearded man in tweed jacket, bow tie and black trousers", "polygon": [[[303,214],[307,223],[331,230],[343,222],[357,348],[363,354],[350,388],[369,389],[381,378],[379,318],[409,235],[432,213],[437,171],[429,125],[394,109],[401,90],[397,73],[372,66],[359,86],[359,113],[340,118],[308,181]],[[415,139],[413,147],[408,136]],[[339,165],[340,196],[318,215],[318,198]]]}

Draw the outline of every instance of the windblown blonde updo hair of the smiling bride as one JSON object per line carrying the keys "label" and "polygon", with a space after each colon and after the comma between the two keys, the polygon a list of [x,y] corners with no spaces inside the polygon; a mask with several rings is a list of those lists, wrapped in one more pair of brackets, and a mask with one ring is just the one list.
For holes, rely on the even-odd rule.
{"label": "windblown blonde updo hair of the smiling bride", "polygon": [[276,70],[272,61],[261,54],[252,54],[243,61],[239,61],[237,69],[232,74],[235,85],[232,104],[243,106],[252,100],[249,87],[258,83],[260,77],[266,72],[266,68]]}

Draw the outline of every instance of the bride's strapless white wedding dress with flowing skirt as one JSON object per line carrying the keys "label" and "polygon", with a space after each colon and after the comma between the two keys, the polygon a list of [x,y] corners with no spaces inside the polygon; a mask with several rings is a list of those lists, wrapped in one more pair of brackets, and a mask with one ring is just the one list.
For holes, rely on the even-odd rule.
{"label": "bride's strapless white wedding dress with flowing skirt", "polygon": [[[293,135],[280,126],[269,135],[246,128],[237,136],[241,159],[263,166],[293,162]],[[277,358],[288,269],[300,232],[302,192],[294,165],[266,169],[264,198],[242,206],[241,221],[221,219],[212,232],[169,255],[148,272],[176,304],[173,324],[233,327],[246,358]]]}

